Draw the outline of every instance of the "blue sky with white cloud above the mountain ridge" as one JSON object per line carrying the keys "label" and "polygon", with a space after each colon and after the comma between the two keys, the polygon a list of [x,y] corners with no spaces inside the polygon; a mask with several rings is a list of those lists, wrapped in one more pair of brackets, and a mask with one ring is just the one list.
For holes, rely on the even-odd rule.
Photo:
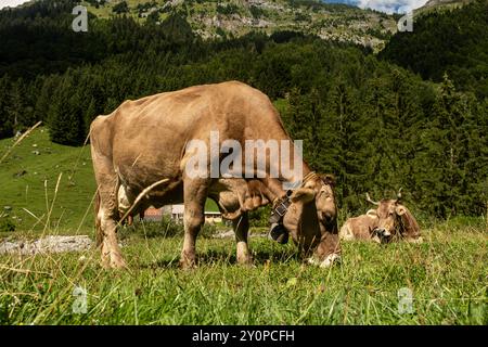
{"label": "blue sky with white cloud above the mountain ridge", "polygon": [[[0,0],[0,9],[16,7],[28,0]],[[407,12],[422,7],[427,0],[323,0],[324,2],[339,2],[357,5],[361,9],[374,9],[386,13]],[[402,11],[403,10],[403,11]]]}

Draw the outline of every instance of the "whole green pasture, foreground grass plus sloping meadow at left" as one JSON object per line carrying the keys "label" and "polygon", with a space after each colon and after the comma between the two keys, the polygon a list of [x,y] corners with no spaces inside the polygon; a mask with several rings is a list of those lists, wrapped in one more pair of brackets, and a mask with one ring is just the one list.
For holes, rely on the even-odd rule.
{"label": "whole green pasture, foreground grass plus sloping meadow at left", "polygon": [[[0,141],[0,155],[12,143]],[[93,237],[87,147],[52,144],[37,129],[0,167],[0,208],[10,206],[17,227],[0,231],[0,242]],[[486,220],[421,220],[421,227],[423,244],[343,243],[343,261],[330,269],[305,265],[292,243],[258,236],[249,242],[255,266],[241,267],[233,239],[204,232],[198,267],[183,271],[181,227],[165,235],[150,222],[120,230],[128,271],[103,270],[95,247],[3,254],[0,324],[488,324]],[[76,288],[86,292],[86,313]],[[413,300],[402,301],[401,311],[406,288]]]}

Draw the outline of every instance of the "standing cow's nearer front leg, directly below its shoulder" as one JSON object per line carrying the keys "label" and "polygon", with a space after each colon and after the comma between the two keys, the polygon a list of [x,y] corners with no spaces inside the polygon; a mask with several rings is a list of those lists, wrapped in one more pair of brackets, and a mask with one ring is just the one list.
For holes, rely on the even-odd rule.
{"label": "standing cow's nearer front leg, directly below its shoulder", "polygon": [[187,178],[183,181],[184,241],[180,259],[180,267],[183,269],[196,266],[196,236],[205,222],[205,200],[207,198],[208,185],[209,180],[207,179]]}

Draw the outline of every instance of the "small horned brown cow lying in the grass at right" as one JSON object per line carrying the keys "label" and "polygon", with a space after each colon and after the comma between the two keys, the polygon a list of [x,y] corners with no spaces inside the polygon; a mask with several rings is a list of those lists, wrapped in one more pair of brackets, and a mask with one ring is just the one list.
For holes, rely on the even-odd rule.
{"label": "small horned brown cow lying in the grass at right", "polygon": [[374,202],[367,193],[367,201],[375,206],[365,215],[349,218],[341,228],[342,240],[372,240],[387,243],[404,239],[409,242],[422,242],[419,223],[410,210],[401,204],[401,189],[396,200]]}

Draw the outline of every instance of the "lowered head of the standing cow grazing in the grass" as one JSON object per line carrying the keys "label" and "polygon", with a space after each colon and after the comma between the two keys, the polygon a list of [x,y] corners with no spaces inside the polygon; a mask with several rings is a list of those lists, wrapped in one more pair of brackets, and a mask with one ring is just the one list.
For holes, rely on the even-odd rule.
{"label": "lowered head of the standing cow grazing in the grass", "polygon": [[283,226],[310,262],[330,266],[341,258],[332,176],[311,175],[290,196]]}

